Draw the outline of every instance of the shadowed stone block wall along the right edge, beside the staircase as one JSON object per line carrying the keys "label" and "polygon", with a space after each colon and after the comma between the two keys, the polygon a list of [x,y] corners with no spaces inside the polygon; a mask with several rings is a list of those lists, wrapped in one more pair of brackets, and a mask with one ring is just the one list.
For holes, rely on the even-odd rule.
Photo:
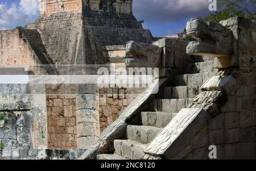
{"label": "shadowed stone block wall along the right edge, beside the staircase", "polygon": [[[255,20],[238,17],[225,20],[222,24],[234,34],[234,54],[237,55],[239,67],[234,68],[233,76],[238,87],[228,96],[221,115],[210,120],[208,128],[197,136],[196,143],[203,147],[209,139],[207,145],[217,145],[218,159],[256,159]],[[201,159],[208,153],[207,148],[199,148],[191,156]]]}

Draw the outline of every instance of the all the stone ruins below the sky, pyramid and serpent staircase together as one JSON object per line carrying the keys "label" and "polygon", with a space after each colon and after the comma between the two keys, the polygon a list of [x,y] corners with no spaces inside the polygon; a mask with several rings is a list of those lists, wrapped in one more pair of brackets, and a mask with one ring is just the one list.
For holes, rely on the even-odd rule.
{"label": "all the stone ruins below the sky, pyramid and serpent staircase together", "polygon": [[[153,41],[132,3],[42,0],[34,23],[0,31],[0,73],[23,75],[0,85],[0,159],[209,159],[210,145],[256,159],[256,21],[194,18],[196,41]],[[89,82],[113,64],[159,73],[146,88]]]}

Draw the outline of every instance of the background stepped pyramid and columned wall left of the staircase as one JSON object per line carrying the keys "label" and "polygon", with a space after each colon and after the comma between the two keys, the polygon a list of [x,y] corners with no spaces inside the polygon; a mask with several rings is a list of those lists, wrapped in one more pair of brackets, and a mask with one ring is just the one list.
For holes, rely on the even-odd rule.
{"label": "background stepped pyramid and columned wall left of the staircase", "polygon": [[[114,61],[124,66],[123,45],[129,40],[151,43],[152,35],[133,16],[130,0],[46,0],[40,2],[40,15],[34,23],[24,30],[0,31],[0,40],[1,74],[81,75],[97,73],[97,64]],[[74,84],[2,86],[1,112],[14,118],[10,126],[1,124],[3,159],[57,159],[57,151],[45,149],[78,148],[60,151],[63,159],[74,159],[98,140],[100,127],[103,131],[135,98],[129,96],[131,90],[117,88],[107,100],[98,90]],[[26,129],[17,123],[23,114]],[[5,130],[7,127],[14,129]],[[27,155],[21,154],[23,149]]]}

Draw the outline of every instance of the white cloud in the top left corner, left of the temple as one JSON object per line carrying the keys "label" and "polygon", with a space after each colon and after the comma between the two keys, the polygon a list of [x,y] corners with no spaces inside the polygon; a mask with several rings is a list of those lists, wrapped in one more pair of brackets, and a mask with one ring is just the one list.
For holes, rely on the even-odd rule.
{"label": "white cloud in the top left corner, left of the temple", "polygon": [[38,0],[20,0],[7,7],[0,4],[0,29],[12,29],[32,22],[38,16]]}

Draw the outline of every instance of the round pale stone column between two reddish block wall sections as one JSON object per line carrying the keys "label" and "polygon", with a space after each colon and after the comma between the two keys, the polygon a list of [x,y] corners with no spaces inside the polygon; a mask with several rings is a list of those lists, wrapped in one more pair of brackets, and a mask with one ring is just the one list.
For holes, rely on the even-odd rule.
{"label": "round pale stone column between two reddish block wall sections", "polygon": [[99,95],[79,94],[76,97],[77,148],[88,149],[100,137]]}

